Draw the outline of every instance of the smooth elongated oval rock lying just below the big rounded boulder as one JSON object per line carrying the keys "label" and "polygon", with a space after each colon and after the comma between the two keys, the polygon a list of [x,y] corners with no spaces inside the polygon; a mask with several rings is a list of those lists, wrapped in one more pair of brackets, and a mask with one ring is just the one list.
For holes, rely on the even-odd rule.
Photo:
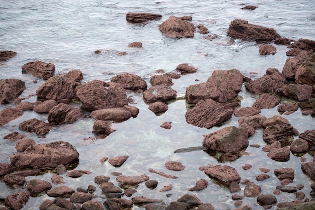
{"label": "smooth elongated oval rock lying just below the big rounded boulder", "polygon": [[131,113],[124,108],[109,108],[95,110],[90,116],[95,120],[123,122],[131,118]]}

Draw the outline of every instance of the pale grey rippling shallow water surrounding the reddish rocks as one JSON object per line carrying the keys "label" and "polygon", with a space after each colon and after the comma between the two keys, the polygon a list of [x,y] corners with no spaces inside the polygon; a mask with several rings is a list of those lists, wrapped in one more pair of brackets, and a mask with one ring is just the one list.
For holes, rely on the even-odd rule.
{"label": "pale grey rippling shallow water surrounding the reddish rocks", "polygon": [[[0,63],[0,79],[18,78],[26,82],[26,90],[20,97],[29,97],[28,101],[35,101],[36,89],[44,80],[27,74],[21,74],[21,67],[31,61],[41,60],[55,65],[56,74],[72,69],[80,69],[84,73],[84,81],[100,79],[108,81],[122,72],[135,73],[149,79],[157,69],[172,72],[177,65],[189,63],[198,71],[173,79],[172,86],[178,94],[185,93],[186,87],[204,82],[213,70],[239,69],[245,76],[259,78],[265,74],[268,67],[278,68],[280,71],[287,59],[285,46],[274,45],[277,48],[275,55],[260,56],[259,44],[232,40],[226,36],[230,21],[234,19],[248,20],[249,23],[274,28],[282,37],[297,40],[306,38],[315,40],[315,14],[313,2],[304,1],[252,1],[251,5],[258,8],[255,11],[241,10],[246,6],[243,1],[3,1],[0,3],[0,50],[12,50],[18,55],[8,61]],[[146,12],[161,14],[160,21],[152,21],[145,25],[128,24],[127,12]],[[158,26],[171,15],[177,17],[192,16],[195,26],[203,24],[216,34],[217,39],[208,41],[206,35],[195,33],[194,38],[170,39],[159,31]],[[131,42],[142,42],[142,48],[128,48]],[[95,50],[101,54],[95,54]],[[117,56],[118,52],[125,51],[128,55]],[[37,80],[37,83],[33,83]],[[196,81],[199,80],[199,81]],[[34,112],[25,112],[22,117],[0,128],[0,136],[18,131],[33,139],[37,144],[53,141],[67,141],[80,153],[80,164],[76,169],[89,170],[91,175],[80,178],[64,176],[66,185],[76,189],[79,186],[94,184],[94,177],[98,175],[110,176],[118,171],[124,175],[147,174],[150,179],[159,181],[155,190],[149,190],[140,184],[137,193],[149,198],[161,198],[165,203],[177,200],[185,193],[194,194],[204,203],[211,203],[215,209],[233,209],[234,201],[231,193],[224,187],[214,183],[207,175],[199,170],[206,164],[218,164],[217,160],[204,151],[174,153],[176,149],[192,146],[201,146],[204,134],[209,134],[225,126],[238,126],[238,118],[232,117],[221,127],[211,129],[198,128],[188,125],[185,121],[187,111],[185,100],[176,100],[169,103],[169,110],[155,116],[149,111],[148,105],[142,100],[141,94],[128,92],[136,101],[132,106],[140,112],[137,118],[114,124],[117,131],[105,139],[97,139],[92,133],[94,120],[85,118],[71,125],[54,127],[44,137],[37,136],[18,129],[19,123],[31,118],[47,121],[47,115]],[[243,96],[242,107],[252,106],[258,97],[245,91],[243,87],[239,95]],[[0,110],[14,107],[14,104],[0,105]],[[272,117],[278,114],[277,109],[262,110],[262,115]],[[87,113],[88,115],[88,113]],[[302,116],[300,110],[289,116],[283,116],[299,133],[314,129],[314,118]],[[170,130],[160,128],[163,122],[171,121]],[[295,137],[297,138],[297,137]],[[262,139],[262,130],[249,139],[250,144],[265,146]],[[0,141],[0,162],[10,162],[10,155],[16,152],[15,142],[3,139]],[[272,194],[280,181],[274,176],[273,170],[290,167],[295,170],[293,185],[304,184],[301,190],[309,196],[310,183],[313,182],[301,172],[300,157],[291,154],[290,161],[276,162],[269,159],[261,148],[246,148],[249,155],[243,155],[236,161],[224,163],[234,167],[241,175],[242,180],[250,179],[262,187],[262,194]],[[129,155],[129,159],[119,168],[114,168],[108,162],[101,164],[102,157]],[[310,154],[304,154],[307,161],[312,161]],[[164,167],[166,161],[179,161],[186,166],[181,172],[169,171]],[[246,163],[253,165],[250,170],[243,170]],[[255,177],[261,174],[258,169],[271,169],[268,174],[271,178],[257,182]],[[148,172],[149,168],[179,176],[179,179],[167,179]],[[52,173],[45,173],[38,177],[50,181]],[[209,186],[200,192],[189,192],[198,179],[205,178]],[[158,193],[165,185],[173,183],[169,192]],[[54,186],[54,185],[53,185]],[[244,189],[245,185],[241,185]],[[0,182],[0,197],[24,189],[11,189],[3,181]],[[104,196],[101,189],[95,194]],[[239,192],[243,194],[243,190]],[[166,194],[173,194],[169,197]],[[282,192],[276,196],[278,202],[292,201],[293,194]],[[23,209],[36,209],[44,199],[53,199],[47,195],[31,198]],[[101,201],[104,199],[97,198]],[[245,197],[243,205],[249,204],[253,209],[263,209],[257,206],[256,198]],[[35,206],[35,207],[34,207]],[[275,209],[274,206],[272,209]],[[134,206],[133,209],[144,209],[143,206]]]}

